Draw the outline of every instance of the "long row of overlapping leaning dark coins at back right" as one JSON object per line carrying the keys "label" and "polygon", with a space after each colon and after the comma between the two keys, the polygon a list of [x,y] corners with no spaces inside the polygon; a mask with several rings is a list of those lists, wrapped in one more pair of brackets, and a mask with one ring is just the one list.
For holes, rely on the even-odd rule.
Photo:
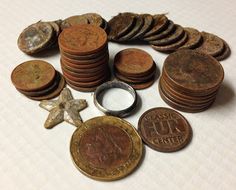
{"label": "long row of overlapping leaning dark coins at back right", "polygon": [[220,37],[182,27],[165,14],[119,13],[109,24],[109,39],[114,42],[141,40],[157,51],[170,53],[178,49],[196,49],[217,60],[230,55],[229,45]]}

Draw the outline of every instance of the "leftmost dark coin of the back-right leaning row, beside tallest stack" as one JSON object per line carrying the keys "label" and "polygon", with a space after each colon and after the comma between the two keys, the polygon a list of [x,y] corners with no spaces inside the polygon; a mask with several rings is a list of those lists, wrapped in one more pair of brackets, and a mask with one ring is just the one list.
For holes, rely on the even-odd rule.
{"label": "leftmost dark coin of the back-right leaning row, beside tallest stack", "polygon": [[134,16],[129,13],[120,13],[117,16],[113,17],[109,24],[109,39],[115,40],[125,34],[127,34],[130,29],[133,27]]}

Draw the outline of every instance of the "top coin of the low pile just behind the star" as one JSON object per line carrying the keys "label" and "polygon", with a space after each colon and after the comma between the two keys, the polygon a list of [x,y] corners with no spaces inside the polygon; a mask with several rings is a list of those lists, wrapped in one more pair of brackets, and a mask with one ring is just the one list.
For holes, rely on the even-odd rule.
{"label": "top coin of the low pile just behind the star", "polygon": [[23,91],[38,91],[48,87],[55,78],[52,65],[41,60],[26,61],[18,65],[11,74],[14,86]]}

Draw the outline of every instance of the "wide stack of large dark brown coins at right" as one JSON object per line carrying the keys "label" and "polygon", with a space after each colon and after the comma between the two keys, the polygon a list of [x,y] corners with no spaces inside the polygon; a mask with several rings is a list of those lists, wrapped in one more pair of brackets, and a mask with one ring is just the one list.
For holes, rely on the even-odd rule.
{"label": "wide stack of large dark brown coins at right", "polygon": [[196,50],[179,50],[164,62],[159,91],[173,108],[200,112],[212,105],[223,78],[224,70],[212,56]]}

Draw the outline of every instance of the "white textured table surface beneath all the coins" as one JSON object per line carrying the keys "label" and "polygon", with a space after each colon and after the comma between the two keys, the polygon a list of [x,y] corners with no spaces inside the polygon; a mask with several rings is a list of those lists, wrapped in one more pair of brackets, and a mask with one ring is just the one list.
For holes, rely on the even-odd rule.
{"label": "white textured table surface beneath all the coins", "polygon": [[[139,1],[7,1],[0,2],[0,186],[1,189],[235,189],[236,187],[236,1],[235,0],[139,0]],[[109,20],[119,12],[168,13],[182,26],[215,33],[232,49],[222,61],[225,79],[215,103],[202,113],[182,113],[193,129],[189,146],[175,153],[161,153],[145,147],[140,167],[128,177],[114,182],[99,182],[81,174],[73,165],[69,143],[75,128],[62,123],[52,130],[43,127],[48,112],[39,102],[18,93],[10,75],[15,66],[30,59],[50,62],[61,71],[59,53],[51,51],[38,57],[25,55],[17,48],[20,32],[39,20],[56,20],[71,15],[96,12]],[[111,62],[125,48],[149,52],[161,70],[166,54],[148,45],[109,43]],[[152,87],[138,91],[142,104],[127,117],[137,128],[141,114],[153,107],[169,107],[160,98],[158,79]],[[85,98],[89,107],[81,112],[83,120],[102,113],[93,105],[91,93],[72,91]]]}

